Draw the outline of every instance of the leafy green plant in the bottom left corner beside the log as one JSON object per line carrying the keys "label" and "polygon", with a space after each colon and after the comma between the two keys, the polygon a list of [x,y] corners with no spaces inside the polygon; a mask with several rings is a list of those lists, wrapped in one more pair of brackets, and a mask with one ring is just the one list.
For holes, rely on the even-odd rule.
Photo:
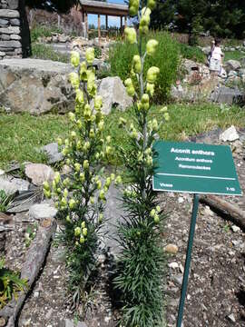
{"label": "leafy green plant in the bottom left corner beside the log", "polygon": [[5,260],[0,260],[0,309],[5,304],[12,300],[14,295],[15,299],[18,297],[18,292],[24,291],[27,287],[27,281],[19,278],[19,274],[11,272],[5,268]]}

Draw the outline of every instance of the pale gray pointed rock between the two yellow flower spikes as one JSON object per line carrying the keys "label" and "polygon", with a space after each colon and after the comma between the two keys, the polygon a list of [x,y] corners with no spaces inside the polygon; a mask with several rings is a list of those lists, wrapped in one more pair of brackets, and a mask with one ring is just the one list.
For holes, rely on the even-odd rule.
{"label": "pale gray pointed rock between the two yellow flower spikes", "polygon": [[103,97],[103,114],[110,114],[113,106],[124,111],[132,105],[132,98],[119,77],[103,78],[98,89],[98,94]]}

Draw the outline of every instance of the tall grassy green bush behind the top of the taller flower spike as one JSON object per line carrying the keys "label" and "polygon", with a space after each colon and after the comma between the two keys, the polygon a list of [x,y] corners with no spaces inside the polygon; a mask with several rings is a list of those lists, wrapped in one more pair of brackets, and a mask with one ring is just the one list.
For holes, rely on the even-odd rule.
{"label": "tall grassy green bush behind the top of the taller flower spike", "polygon": [[[159,50],[154,57],[146,57],[144,64],[144,77],[151,66],[158,65],[160,74],[158,76],[154,101],[162,103],[168,99],[171,84],[175,82],[179,64],[179,48],[175,40],[168,33],[156,32],[143,37],[142,51],[145,51],[147,40],[154,38],[159,42]],[[132,56],[137,53],[136,45],[127,42],[117,43],[110,48],[109,62],[113,76],[120,76],[125,80],[131,71]]]}

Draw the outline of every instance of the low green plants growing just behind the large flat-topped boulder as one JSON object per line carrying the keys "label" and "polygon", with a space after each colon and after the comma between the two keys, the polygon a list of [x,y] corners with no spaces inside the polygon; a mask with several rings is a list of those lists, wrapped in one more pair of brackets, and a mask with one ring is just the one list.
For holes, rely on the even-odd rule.
{"label": "low green plants growing just behind the large flat-topped boulder", "polygon": [[58,52],[54,51],[51,45],[41,45],[41,44],[34,44],[32,45],[33,57],[37,59],[44,59],[44,60],[53,60],[62,63],[69,63],[69,56],[68,54],[59,54]]}

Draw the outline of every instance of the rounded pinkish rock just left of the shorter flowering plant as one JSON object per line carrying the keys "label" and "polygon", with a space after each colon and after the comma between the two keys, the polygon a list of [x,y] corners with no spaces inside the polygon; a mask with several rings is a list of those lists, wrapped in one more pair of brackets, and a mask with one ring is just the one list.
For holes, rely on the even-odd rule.
{"label": "rounded pinkish rock just left of the shorter flowering plant", "polygon": [[41,186],[45,181],[51,182],[54,179],[54,170],[43,163],[29,163],[25,165],[26,176],[34,183]]}

